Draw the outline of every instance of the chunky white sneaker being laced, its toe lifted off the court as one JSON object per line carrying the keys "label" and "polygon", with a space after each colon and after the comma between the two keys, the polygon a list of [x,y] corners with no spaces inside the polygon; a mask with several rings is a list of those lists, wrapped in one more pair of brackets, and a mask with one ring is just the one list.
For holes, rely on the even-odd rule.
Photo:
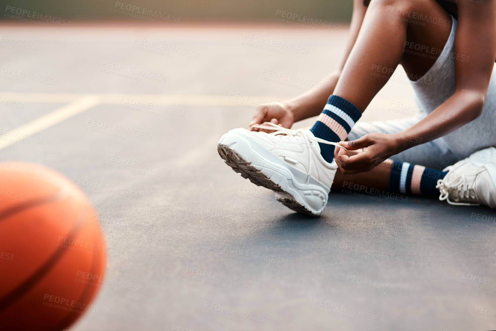
{"label": "chunky white sneaker being laced, its toe lifted off the court", "polygon": [[315,137],[310,130],[269,125],[253,127],[277,131],[240,128],[225,133],[217,145],[219,155],[242,177],[273,190],[275,198],[288,208],[319,216],[327,204],[337,165],[322,158],[317,142],[339,145]]}

